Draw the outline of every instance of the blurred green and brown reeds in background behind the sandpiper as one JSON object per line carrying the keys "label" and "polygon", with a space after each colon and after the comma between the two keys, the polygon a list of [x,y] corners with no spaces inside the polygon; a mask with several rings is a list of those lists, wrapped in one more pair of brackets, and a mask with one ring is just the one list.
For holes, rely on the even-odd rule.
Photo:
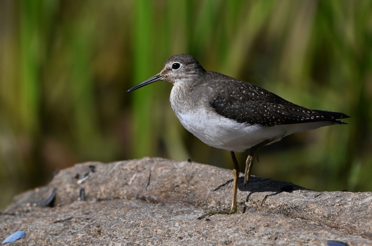
{"label": "blurred green and brown reeds in background behind the sandpiper", "polygon": [[231,168],[228,151],[183,129],[171,84],[125,93],[179,53],[352,116],[266,146],[254,175],[372,190],[370,0],[1,0],[0,30],[0,208],[77,162],[161,156]]}

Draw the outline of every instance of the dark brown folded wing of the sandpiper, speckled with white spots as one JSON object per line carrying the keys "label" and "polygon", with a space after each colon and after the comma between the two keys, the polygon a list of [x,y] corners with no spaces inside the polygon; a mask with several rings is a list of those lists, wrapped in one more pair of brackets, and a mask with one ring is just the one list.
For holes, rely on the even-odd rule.
{"label": "dark brown folded wing of the sandpiper, speckled with white spots", "polygon": [[344,124],[337,119],[349,118],[343,113],[307,109],[256,85],[227,78],[228,84],[221,77],[213,82],[216,94],[210,105],[218,114],[240,123],[275,126],[328,120]]}

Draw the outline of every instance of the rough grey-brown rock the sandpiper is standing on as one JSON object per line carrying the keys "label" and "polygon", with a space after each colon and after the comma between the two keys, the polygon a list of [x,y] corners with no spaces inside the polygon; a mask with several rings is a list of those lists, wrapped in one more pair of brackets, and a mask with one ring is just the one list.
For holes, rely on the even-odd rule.
{"label": "rough grey-brown rock the sandpiper is standing on", "polygon": [[[258,177],[245,189],[241,174],[244,214],[197,220],[229,208],[231,181],[231,170],[160,158],[77,164],[15,197],[0,212],[0,241],[25,230],[10,245],[372,245],[372,192],[315,192]],[[42,207],[54,188],[52,207]]]}

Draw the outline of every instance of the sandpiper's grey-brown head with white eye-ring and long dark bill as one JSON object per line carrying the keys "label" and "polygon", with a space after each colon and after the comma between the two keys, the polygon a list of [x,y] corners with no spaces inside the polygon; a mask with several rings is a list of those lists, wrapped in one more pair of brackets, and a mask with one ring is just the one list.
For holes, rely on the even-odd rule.
{"label": "sandpiper's grey-brown head with white eye-ring and long dark bill", "polygon": [[174,84],[177,81],[190,80],[193,77],[200,76],[204,73],[205,69],[200,65],[195,57],[187,54],[174,55],[167,59],[159,74],[135,85],[126,93],[160,80],[165,80]]}

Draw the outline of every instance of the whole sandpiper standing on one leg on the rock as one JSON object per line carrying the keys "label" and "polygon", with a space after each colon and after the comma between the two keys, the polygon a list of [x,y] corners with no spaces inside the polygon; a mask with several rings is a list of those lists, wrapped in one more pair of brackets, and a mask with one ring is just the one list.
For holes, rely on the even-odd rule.
{"label": "whole sandpiper standing on one leg on the rock", "polygon": [[170,104],[181,124],[209,146],[229,150],[234,165],[231,209],[203,214],[232,214],[237,208],[239,165],[234,152],[250,149],[244,172],[249,181],[253,156],[269,143],[295,132],[346,124],[344,113],[311,110],[248,82],[206,71],[191,55],[171,56],[159,74],[127,91],[156,81],[173,84]]}

